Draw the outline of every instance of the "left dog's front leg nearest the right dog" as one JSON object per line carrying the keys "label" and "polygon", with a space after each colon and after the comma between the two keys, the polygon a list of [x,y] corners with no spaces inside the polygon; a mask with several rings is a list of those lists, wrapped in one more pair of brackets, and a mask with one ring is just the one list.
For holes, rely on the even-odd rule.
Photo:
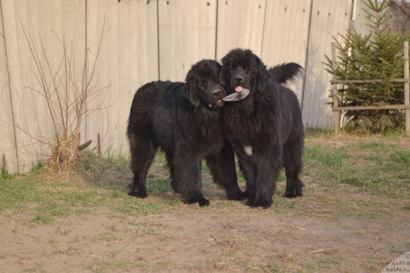
{"label": "left dog's front leg nearest the right dog", "polygon": [[229,200],[246,199],[238,186],[232,146],[227,143],[219,153],[210,155],[206,159],[214,182],[225,189],[227,198]]}

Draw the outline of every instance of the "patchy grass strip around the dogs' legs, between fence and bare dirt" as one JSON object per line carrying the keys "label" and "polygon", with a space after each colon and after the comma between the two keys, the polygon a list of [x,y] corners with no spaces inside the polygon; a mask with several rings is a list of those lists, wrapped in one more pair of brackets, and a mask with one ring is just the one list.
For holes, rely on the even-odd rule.
{"label": "patchy grass strip around the dogs' legs, between fence and bare dirt", "polygon": [[[363,136],[352,137],[330,132],[314,131],[308,134],[303,155],[302,180],[306,183],[305,196],[309,198],[317,195],[309,202],[319,202],[346,216],[358,215],[358,211],[363,209],[363,215],[378,217],[377,208],[380,206],[377,203],[372,205],[374,208],[368,206],[369,199],[408,198],[410,149],[395,143],[396,140],[403,142],[405,136],[370,136],[366,139]],[[343,136],[349,139],[343,141]],[[90,159],[77,174],[66,177],[63,175],[63,178],[48,175],[42,165],[34,166],[26,174],[11,175],[4,172],[0,177],[0,213],[29,211],[28,221],[31,223],[49,224],[57,218],[92,213],[101,207],[105,207],[110,213],[137,216],[155,214],[181,203],[180,197],[173,195],[169,169],[165,155],[161,152],[157,153],[147,176],[147,199],[128,196],[127,185],[132,180],[128,159],[101,159],[95,156]],[[243,175],[239,169],[237,172],[239,185],[244,189]],[[202,178],[204,192],[211,200],[211,208],[229,209],[233,206],[232,202],[224,201],[224,191],[212,183],[206,164],[202,165]],[[272,212],[298,215],[309,213],[297,200],[281,197],[285,182],[282,171],[273,197]],[[311,186],[313,183],[314,187]],[[348,185],[348,191],[337,191],[338,187],[342,188],[338,185]],[[366,194],[366,198],[363,202],[356,200],[352,203],[347,197],[352,193]],[[339,197],[340,194],[342,196]],[[344,194],[346,196],[343,198]],[[218,202],[214,202],[215,200]],[[244,202],[234,203],[244,206]],[[409,209],[408,205],[401,205],[401,208],[404,211]]]}

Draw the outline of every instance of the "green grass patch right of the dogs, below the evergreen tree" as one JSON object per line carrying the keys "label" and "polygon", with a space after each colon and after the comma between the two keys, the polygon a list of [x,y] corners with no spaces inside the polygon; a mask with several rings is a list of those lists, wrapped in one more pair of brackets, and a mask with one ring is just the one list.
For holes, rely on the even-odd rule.
{"label": "green grass patch right of the dogs, below the evergreen tree", "polygon": [[410,150],[386,143],[387,137],[344,145],[307,145],[304,175],[332,187],[342,183],[375,196],[404,199],[410,191]]}

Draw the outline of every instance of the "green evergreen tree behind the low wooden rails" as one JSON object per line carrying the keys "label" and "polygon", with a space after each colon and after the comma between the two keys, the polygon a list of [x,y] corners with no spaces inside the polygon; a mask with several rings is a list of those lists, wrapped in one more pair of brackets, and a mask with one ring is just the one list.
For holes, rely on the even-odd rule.
{"label": "green evergreen tree behind the low wooden rails", "polygon": [[[345,84],[338,89],[339,106],[368,106],[404,104],[402,83],[388,82],[403,79],[403,43],[410,40],[410,33],[402,36],[393,32],[389,22],[389,1],[362,0],[370,10],[367,13],[371,31],[361,36],[354,28],[341,35],[342,43],[336,42],[337,79],[370,80],[387,82]],[[326,65],[332,62],[326,56]],[[332,73],[331,69],[326,69]],[[402,110],[352,110],[346,111],[347,128],[360,132],[383,132],[403,126]]]}

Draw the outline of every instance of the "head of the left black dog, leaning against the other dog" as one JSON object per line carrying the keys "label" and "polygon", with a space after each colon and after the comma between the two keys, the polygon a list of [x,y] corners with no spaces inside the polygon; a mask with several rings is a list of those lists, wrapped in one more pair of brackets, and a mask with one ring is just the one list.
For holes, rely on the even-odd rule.
{"label": "head of the left black dog, leaning against the other dog", "polygon": [[223,106],[227,92],[219,83],[221,65],[215,60],[194,64],[185,79],[186,95],[194,107],[216,109]]}

